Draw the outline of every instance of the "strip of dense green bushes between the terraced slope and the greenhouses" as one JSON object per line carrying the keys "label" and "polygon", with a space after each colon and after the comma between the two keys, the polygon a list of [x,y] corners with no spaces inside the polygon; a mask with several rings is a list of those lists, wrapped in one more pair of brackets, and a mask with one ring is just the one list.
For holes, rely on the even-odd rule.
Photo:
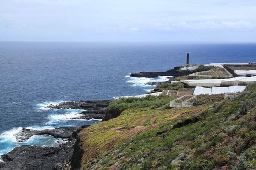
{"label": "strip of dense green bushes between the terraced slope and the greenhouses", "polygon": [[158,107],[169,108],[169,104],[171,100],[176,99],[175,96],[152,96],[148,95],[143,98],[121,98],[118,100],[114,100],[108,106],[108,111],[120,114],[122,111],[130,108],[142,108],[148,107],[148,109],[155,109]]}

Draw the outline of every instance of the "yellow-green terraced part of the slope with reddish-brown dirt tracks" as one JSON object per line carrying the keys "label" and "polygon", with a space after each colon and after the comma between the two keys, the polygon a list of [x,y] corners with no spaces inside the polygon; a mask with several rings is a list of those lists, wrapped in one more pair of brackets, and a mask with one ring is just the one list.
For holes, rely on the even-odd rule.
{"label": "yellow-green terraced part of the slope with reddish-brown dirt tracks", "polygon": [[[119,117],[92,125],[79,134],[82,141],[82,165],[92,167],[115,147],[125,143],[138,133],[162,127],[166,123],[200,114],[208,109],[205,106],[192,108],[174,108],[166,110],[128,109]],[[102,163],[101,163],[102,164]],[[102,167],[104,167],[104,163]],[[99,168],[99,167],[98,167]],[[110,168],[112,169],[112,168]],[[113,167],[114,169],[114,167]]]}

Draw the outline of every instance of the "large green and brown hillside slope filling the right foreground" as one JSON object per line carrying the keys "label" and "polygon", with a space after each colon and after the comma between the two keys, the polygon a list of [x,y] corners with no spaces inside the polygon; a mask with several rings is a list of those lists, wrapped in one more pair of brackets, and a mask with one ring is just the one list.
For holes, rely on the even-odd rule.
{"label": "large green and brown hillside slope filling the right foreground", "polygon": [[214,108],[123,111],[79,133],[81,169],[255,169],[255,97],[252,89]]}

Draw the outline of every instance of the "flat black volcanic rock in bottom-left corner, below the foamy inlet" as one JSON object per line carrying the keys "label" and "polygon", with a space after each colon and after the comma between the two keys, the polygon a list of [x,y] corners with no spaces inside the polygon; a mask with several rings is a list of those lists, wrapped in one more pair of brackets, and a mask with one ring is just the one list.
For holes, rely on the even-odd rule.
{"label": "flat black volcanic rock in bottom-left corner, below the foamy inlet", "polygon": [[[55,170],[66,163],[70,169],[70,158],[73,147],[37,147],[23,145],[14,148],[11,152],[2,156],[5,161],[0,164],[1,170]],[[69,168],[68,168],[69,167]]]}

